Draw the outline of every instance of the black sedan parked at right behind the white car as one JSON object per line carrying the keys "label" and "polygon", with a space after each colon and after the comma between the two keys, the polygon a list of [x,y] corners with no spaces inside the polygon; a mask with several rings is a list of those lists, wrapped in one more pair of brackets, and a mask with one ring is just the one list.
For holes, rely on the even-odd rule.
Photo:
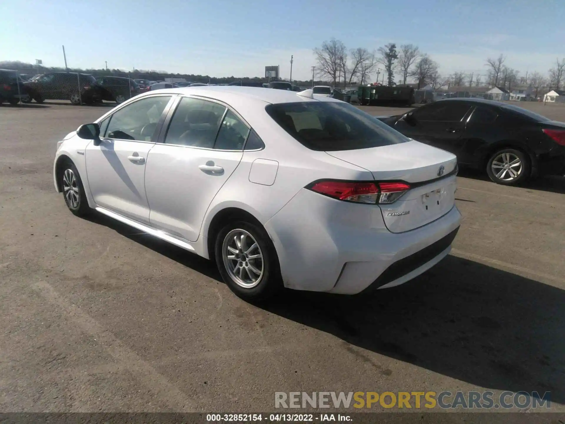
{"label": "black sedan parked at right behind the white car", "polygon": [[506,103],[451,98],[379,119],[411,139],[486,170],[498,184],[565,172],[565,123]]}

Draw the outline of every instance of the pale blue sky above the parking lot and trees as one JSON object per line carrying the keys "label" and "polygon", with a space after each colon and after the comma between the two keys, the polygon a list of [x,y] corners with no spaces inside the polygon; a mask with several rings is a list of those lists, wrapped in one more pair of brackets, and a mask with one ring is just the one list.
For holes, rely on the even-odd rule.
{"label": "pale blue sky above the parking lot and trees", "polygon": [[440,73],[486,74],[506,55],[546,73],[565,57],[565,0],[56,0],[0,2],[0,60],[64,66],[262,76],[280,65],[311,77],[312,49],[334,37],[348,48],[412,43]]}

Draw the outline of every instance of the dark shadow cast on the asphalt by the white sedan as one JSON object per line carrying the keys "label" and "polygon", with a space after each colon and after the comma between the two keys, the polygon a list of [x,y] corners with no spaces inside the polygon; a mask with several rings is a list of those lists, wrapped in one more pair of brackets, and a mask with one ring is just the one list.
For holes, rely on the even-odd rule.
{"label": "dark shadow cast on the asphalt by the white sedan", "polygon": [[[106,215],[88,219],[221,282],[207,259]],[[362,349],[479,387],[550,391],[563,404],[563,305],[562,289],[450,255],[398,287],[358,296],[286,290],[259,307],[336,336],[381,375],[395,371]]]}

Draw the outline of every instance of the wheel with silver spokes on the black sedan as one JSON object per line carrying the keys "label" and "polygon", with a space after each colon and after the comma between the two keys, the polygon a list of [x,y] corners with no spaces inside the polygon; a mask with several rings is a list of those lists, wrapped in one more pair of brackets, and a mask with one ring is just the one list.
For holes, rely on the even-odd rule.
{"label": "wheel with silver spokes on the black sedan", "polygon": [[494,153],[487,165],[486,173],[497,184],[518,185],[530,178],[531,165],[528,155],[516,149],[501,149]]}

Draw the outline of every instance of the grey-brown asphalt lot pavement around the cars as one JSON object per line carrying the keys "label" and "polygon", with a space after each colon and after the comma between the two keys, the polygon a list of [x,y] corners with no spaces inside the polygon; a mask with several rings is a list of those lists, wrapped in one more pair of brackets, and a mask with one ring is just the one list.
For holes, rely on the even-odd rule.
{"label": "grey-brown asphalt lot pavement around the cars", "polygon": [[213,263],[67,210],[55,143],[111,106],[0,107],[1,411],[258,412],[275,391],[487,388],[551,391],[565,410],[565,179],[462,173],[462,226],[432,270],[259,308]]}

